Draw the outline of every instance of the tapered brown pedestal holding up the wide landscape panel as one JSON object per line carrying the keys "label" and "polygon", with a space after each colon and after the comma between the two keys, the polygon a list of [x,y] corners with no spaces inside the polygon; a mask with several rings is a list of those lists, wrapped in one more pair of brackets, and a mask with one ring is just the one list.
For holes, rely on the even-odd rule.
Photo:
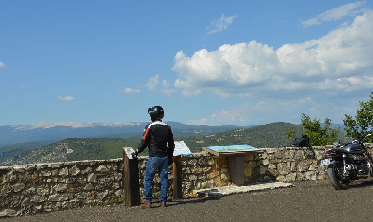
{"label": "tapered brown pedestal holding up the wide landscape panel", "polygon": [[244,185],[245,179],[245,155],[227,156],[229,172],[231,172],[232,184]]}

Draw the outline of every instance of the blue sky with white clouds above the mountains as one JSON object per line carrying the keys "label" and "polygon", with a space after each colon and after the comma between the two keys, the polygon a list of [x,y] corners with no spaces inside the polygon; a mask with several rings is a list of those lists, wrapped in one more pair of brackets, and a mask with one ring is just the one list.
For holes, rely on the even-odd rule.
{"label": "blue sky with white clouds above the mountains", "polygon": [[343,123],[373,87],[369,1],[0,1],[0,126]]}

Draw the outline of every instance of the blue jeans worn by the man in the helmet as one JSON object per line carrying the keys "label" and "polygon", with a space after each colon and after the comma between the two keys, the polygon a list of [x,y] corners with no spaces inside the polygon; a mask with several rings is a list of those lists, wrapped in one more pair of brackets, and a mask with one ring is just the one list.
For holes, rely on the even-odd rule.
{"label": "blue jeans worn by the man in the helmet", "polygon": [[146,163],[145,176],[144,176],[144,189],[145,189],[145,200],[151,202],[151,185],[153,184],[154,175],[159,169],[159,177],[161,179],[161,195],[160,200],[167,200],[167,190],[168,190],[168,156],[157,157],[149,156],[148,162]]}

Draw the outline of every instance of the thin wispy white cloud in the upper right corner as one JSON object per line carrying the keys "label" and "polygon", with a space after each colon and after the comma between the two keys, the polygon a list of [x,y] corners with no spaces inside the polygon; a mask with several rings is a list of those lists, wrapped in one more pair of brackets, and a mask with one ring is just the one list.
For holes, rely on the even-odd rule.
{"label": "thin wispy white cloud in the upper right corner", "polygon": [[334,9],[327,10],[317,15],[315,18],[307,19],[301,23],[304,26],[310,26],[320,24],[321,22],[339,20],[344,16],[355,16],[359,12],[356,9],[363,6],[365,3],[366,1],[357,1],[355,3],[344,4]]}

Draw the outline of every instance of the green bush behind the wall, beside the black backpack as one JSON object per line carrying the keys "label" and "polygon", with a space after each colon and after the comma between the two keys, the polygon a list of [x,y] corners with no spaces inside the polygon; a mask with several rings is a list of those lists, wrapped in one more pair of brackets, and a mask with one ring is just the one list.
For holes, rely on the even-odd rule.
{"label": "green bush behind the wall, beside the black backpack", "polygon": [[304,133],[310,138],[310,146],[323,146],[331,145],[333,142],[339,141],[339,130],[341,127],[330,127],[329,118],[325,118],[324,127],[321,126],[320,120],[313,119],[308,115],[302,113],[301,119],[301,128],[304,130]]}

